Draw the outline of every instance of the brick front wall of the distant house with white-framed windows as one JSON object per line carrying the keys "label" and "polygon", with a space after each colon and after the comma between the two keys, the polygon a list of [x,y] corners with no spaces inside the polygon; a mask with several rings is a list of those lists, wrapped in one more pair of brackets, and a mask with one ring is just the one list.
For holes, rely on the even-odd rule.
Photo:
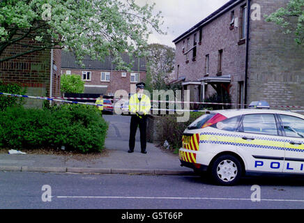
{"label": "brick front wall of the distant house with white-framed windows", "polygon": [[[66,70],[70,70],[71,74],[82,75],[82,71],[91,71],[91,81],[85,81],[85,85],[105,85],[107,86],[107,93],[115,93],[117,90],[125,90],[130,93],[130,84],[136,84],[130,82],[130,72],[127,72],[126,77],[121,77],[121,72],[114,70],[75,70],[63,68],[62,74],[66,74]],[[104,82],[100,80],[101,72],[110,72],[110,82]],[[137,71],[134,71],[137,72]],[[139,72],[139,82],[144,82],[146,79],[146,72]]]}

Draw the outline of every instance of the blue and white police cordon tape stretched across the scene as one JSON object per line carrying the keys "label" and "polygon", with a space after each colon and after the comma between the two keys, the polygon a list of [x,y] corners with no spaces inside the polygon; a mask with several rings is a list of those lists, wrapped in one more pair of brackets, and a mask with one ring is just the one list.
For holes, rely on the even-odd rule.
{"label": "blue and white police cordon tape stretched across the scene", "polygon": [[[30,96],[30,95],[17,95],[13,93],[2,93],[0,95],[4,96],[13,96],[19,98],[32,98],[32,99],[40,99],[40,100],[52,100],[56,102],[66,102],[66,103],[73,103],[73,104],[80,104],[80,105],[94,105],[94,106],[107,106],[107,107],[125,107],[121,105],[108,105],[108,104],[96,104],[91,102],[75,102],[70,100],[96,100],[97,98],[62,98],[62,97],[40,97],[40,96]],[[66,100],[69,99],[69,100]],[[108,100],[108,99],[107,99]],[[112,100],[112,99],[111,99]],[[117,100],[116,102],[118,102]],[[186,103],[186,104],[200,104],[200,105],[241,105],[241,104],[234,104],[234,103],[218,103],[218,102],[181,102],[181,101],[165,101],[165,100],[151,100],[151,102],[166,102],[166,103]],[[127,106],[126,106],[127,107]],[[281,107],[281,108],[304,108],[303,106],[289,106],[289,105],[273,105],[270,107]],[[206,112],[208,110],[191,110],[191,109],[155,109],[151,108],[151,110],[159,110],[159,111],[167,111],[167,112]],[[291,112],[304,112],[304,110],[291,110]]]}

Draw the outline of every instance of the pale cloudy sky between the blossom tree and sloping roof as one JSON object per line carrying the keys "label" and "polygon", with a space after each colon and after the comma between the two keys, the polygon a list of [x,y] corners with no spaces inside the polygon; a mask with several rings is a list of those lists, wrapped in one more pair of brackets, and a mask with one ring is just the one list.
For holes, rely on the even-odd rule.
{"label": "pale cloudy sky between the blossom tree and sloping roof", "polygon": [[154,32],[148,43],[160,43],[174,47],[172,40],[183,34],[215,10],[225,5],[229,0],[136,0],[142,6],[155,2],[155,14],[161,11],[164,17],[162,30],[167,35]]}

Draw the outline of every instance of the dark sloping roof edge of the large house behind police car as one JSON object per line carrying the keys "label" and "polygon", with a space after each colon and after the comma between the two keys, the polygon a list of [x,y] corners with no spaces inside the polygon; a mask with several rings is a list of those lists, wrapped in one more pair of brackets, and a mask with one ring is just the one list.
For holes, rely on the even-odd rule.
{"label": "dark sloping roof edge of the large house behind police car", "polygon": [[208,15],[208,17],[206,17],[201,22],[197,23],[195,26],[192,26],[192,28],[188,29],[188,31],[185,31],[185,33],[181,34],[181,36],[178,36],[172,42],[173,43],[178,43],[180,40],[189,36],[194,31],[197,31],[197,29],[204,26],[206,23],[211,22],[212,20],[215,20],[217,17],[222,15],[222,13],[225,13],[227,10],[229,10],[231,7],[233,7],[236,3],[241,3],[242,1],[245,1],[245,0],[230,0],[230,1],[228,1],[227,3],[225,3],[224,6],[220,7],[218,10],[216,10],[211,15]]}

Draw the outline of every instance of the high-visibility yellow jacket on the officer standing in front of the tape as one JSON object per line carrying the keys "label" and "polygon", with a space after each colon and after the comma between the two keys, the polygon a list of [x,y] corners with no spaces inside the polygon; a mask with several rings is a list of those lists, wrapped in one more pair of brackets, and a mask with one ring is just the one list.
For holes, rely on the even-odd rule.
{"label": "high-visibility yellow jacket on the officer standing in front of the tape", "polygon": [[[151,109],[151,100],[147,95],[142,95],[142,99],[139,101],[137,93],[131,96],[129,100],[129,111],[131,114],[137,114],[137,112],[143,112],[144,115],[148,114]],[[137,114],[139,118],[141,115]]]}

